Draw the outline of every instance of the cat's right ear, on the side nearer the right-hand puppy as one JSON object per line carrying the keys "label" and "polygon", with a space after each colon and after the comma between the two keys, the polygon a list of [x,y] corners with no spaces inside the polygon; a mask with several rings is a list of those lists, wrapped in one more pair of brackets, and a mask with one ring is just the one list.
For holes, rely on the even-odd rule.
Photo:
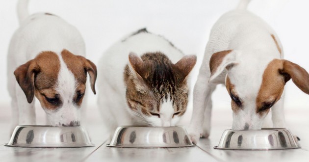
{"label": "cat's right ear, on the side nearer the right-hand puppy", "polygon": [[196,55],[185,55],[175,64],[175,67],[180,72],[182,81],[187,78],[189,73],[192,71],[195,63]]}

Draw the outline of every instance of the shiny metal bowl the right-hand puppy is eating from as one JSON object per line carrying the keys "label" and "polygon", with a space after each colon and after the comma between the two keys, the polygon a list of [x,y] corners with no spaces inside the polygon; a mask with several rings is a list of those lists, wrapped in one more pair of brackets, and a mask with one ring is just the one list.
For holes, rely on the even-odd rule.
{"label": "shiny metal bowl the right-hand puppy is eating from", "polygon": [[215,149],[227,150],[278,150],[301,146],[285,128],[262,128],[261,130],[225,130]]}

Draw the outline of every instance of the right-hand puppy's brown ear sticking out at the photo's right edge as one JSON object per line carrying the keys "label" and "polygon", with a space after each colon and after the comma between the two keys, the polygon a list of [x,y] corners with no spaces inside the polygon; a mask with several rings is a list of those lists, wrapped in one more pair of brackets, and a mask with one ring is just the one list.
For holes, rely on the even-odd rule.
{"label": "right-hand puppy's brown ear sticking out at the photo's right edge", "polygon": [[283,60],[283,69],[279,69],[279,73],[283,75],[285,82],[292,79],[299,89],[309,94],[309,74],[304,68],[288,60]]}

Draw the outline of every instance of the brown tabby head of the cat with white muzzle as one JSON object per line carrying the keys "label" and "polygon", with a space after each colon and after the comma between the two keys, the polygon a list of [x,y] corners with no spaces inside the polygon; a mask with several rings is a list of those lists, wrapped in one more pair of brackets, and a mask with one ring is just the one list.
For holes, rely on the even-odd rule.
{"label": "brown tabby head of the cat with white muzzle", "polygon": [[150,126],[175,126],[188,104],[187,76],[196,63],[186,55],[176,64],[162,53],[129,54],[126,99],[134,119]]}

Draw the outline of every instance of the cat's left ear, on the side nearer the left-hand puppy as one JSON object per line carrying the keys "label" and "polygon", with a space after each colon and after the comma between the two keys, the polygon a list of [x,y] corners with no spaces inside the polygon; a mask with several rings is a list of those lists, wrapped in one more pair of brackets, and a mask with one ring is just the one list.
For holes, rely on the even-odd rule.
{"label": "cat's left ear, on the side nearer the left-hand puppy", "polygon": [[144,81],[147,76],[147,69],[147,65],[139,56],[134,53],[129,54],[130,76],[133,78],[136,90],[142,93],[148,90],[148,86]]}

